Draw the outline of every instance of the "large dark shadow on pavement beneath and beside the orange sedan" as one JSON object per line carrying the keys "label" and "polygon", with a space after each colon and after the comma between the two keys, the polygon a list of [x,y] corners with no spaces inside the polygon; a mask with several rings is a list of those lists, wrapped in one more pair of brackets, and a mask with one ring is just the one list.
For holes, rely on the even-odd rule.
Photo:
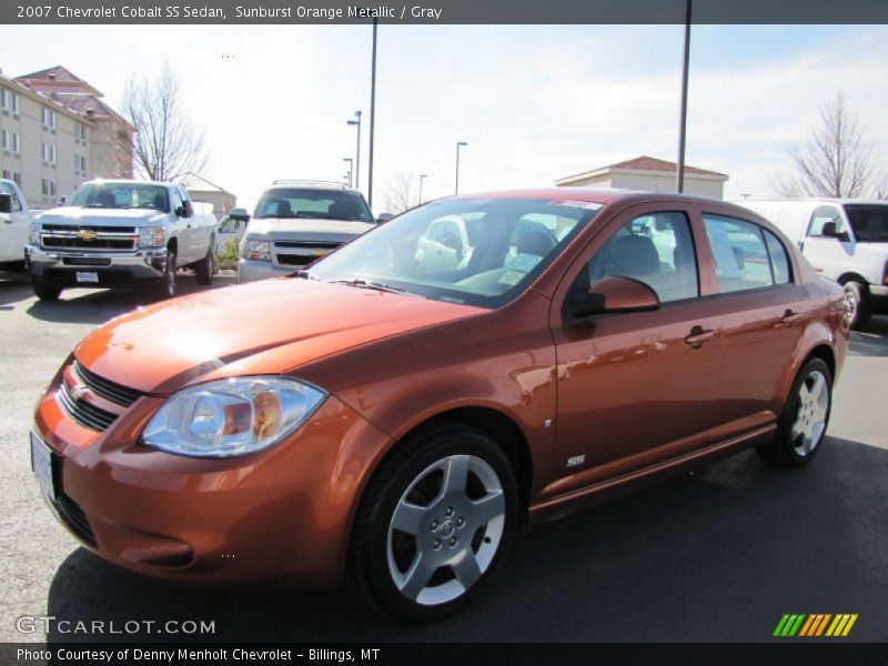
{"label": "large dark shadow on pavement beneath and beside the orange sedan", "polygon": [[[418,626],[342,591],[183,587],[79,548],[56,573],[49,615],[157,624],[47,640],[759,642],[790,612],[857,613],[851,639],[884,640],[888,531],[875,516],[888,504],[886,475],[888,451],[834,437],[803,470],[743,452],[541,528],[472,605]],[[212,622],[215,632],[158,634],[168,620]]]}

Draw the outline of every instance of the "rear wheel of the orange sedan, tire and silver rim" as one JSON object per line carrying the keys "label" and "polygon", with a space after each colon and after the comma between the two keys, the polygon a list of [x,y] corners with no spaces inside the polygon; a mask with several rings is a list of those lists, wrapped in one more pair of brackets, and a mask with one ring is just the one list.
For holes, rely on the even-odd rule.
{"label": "rear wheel of the orange sedan, tire and silver rim", "polygon": [[789,467],[807,465],[826,437],[833,408],[833,374],[820,359],[799,371],[778,423],[777,436],[758,453],[771,463]]}

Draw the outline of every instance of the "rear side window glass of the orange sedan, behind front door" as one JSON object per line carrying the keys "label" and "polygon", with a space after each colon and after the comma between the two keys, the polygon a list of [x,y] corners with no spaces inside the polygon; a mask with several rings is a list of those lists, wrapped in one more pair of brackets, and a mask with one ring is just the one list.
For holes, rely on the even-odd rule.
{"label": "rear side window glass of the orange sedan, behind front door", "polygon": [[777,253],[773,266],[771,255],[765,244],[766,232],[758,224],[708,213],[704,213],[703,222],[713,249],[719,293],[764,289],[789,281],[786,251],[775,238],[774,241],[783,250],[783,258]]}

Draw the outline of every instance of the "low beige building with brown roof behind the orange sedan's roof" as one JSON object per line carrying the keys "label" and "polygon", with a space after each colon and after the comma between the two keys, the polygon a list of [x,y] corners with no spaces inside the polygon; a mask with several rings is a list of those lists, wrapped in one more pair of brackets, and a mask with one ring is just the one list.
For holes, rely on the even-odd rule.
{"label": "low beige building with brown roof behind the orange sedan's roof", "polygon": [[[625,162],[601,167],[585,173],[568,175],[555,181],[559,188],[620,188],[625,190],[646,190],[650,192],[675,192],[675,162],[642,155]],[[697,167],[685,167],[685,193],[724,199],[724,185],[728,176],[716,171]]]}

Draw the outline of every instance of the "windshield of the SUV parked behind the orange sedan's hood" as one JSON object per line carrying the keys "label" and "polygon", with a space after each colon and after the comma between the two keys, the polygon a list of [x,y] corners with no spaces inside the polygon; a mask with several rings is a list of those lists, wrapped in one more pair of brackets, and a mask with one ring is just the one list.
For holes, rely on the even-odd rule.
{"label": "windshield of the SUV parked behind the orange sedan's hood", "polygon": [[255,218],[307,218],[373,222],[364,198],[356,192],[274,188],[266,191],[256,206]]}

